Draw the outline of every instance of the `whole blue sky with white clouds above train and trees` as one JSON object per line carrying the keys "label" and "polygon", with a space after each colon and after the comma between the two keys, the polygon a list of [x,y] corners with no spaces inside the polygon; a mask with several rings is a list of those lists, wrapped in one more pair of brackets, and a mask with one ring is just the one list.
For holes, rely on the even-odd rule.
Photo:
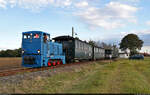
{"label": "whole blue sky with white clouds above train and trees", "polygon": [[119,44],[135,33],[150,46],[150,0],[0,0],[0,49],[21,47],[22,32],[44,31],[51,38]]}

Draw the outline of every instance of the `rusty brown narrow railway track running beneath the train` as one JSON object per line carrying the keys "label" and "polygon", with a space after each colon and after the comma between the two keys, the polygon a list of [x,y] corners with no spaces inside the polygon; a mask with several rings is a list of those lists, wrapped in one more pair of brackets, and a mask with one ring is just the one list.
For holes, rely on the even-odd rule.
{"label": "rusty brown narrow railway track running beneath the train", "polygon": [[62,65],[56,65],[56,66],[51,66],[51,67],[42,67],[42,68],[16,68],[16,69],[0,71],[0,77],[11,76],[11,75],[21,74],[21,73],[26,73],[26,72],[49,70],[49,69],[71,66],[71,65],[89,64],[92,62],[102,62],[102,61],[109,61],[109,60],[75,62],[75,63],[71,63],[71,64],[62,64]]}

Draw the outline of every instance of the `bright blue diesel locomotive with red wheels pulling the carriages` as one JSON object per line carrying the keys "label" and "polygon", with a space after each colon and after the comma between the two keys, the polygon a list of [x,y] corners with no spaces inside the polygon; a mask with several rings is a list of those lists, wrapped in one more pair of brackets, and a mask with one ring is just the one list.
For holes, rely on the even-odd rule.
{"label": "bright blue diesel locomotive with red wheels pulling the carriages", "polygon": [[44,67],[65,64],[62,44],[52,42],[50,34],[42,31],[22,33],[22,66]]}

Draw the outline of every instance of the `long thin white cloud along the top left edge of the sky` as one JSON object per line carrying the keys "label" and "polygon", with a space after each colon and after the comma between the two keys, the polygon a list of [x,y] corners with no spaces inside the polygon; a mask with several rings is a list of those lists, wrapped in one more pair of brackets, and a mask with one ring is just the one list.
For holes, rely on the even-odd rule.
{"label": "long thin white cloud along the top left edge of the sky", "polygon": [[6,8],[7,5],[9,5],[11,7],[19,6],[25,9],[39,10],[49,6],[70,6],[71,1],[72,0],[0,0],[0,7]]}

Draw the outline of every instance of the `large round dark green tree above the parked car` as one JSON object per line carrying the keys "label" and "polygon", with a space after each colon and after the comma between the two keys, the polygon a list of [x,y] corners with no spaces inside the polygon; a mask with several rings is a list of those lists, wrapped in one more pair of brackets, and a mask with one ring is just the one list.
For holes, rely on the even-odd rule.
{"label": "large round dark green tree above the parked car", "polygon": [[141,50],[143,43],[136,34],[128,34],[121,40],[120,49],[123,51],[129,49],[130,55],[133,55],[138,53],[137,50]]}

